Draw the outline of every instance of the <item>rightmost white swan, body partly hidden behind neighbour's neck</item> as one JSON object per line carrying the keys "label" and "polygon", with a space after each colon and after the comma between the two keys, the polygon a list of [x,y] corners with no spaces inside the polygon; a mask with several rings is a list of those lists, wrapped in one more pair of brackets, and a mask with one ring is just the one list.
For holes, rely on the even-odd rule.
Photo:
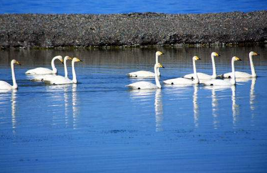
{"label": "rightmost white swan, body partly hidden behind neighbour's neck", "polygon": [[[236,71],[236,72],[235,72],[235,77],[236,77],[236,78],[250,78],[250,77],[257,77],[256,71],[255,71],[255,68],[254,68],[254,64],[253,64],[253,61],[252,61],[252,56],[257,56],[257,55],[260,55],[260,54],[257,54],[256,52],[250,52],[250,53],[249,53],[249,57],[250,57],[250,67],[251,67],[251,74],[246,73],[246,72]],[[232,76],[232,72],[222,74],[222,75],[220,75],[219,77],[231,78],[231,76]]]}

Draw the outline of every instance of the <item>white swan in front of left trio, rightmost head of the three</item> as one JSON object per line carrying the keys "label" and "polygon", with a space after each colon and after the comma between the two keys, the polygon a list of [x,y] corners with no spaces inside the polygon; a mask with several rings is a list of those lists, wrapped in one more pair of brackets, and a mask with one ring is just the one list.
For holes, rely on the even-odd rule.
{"label": "white swan in front of left trio, rightmost head of the three", "polygon": [[[53,85],[60,85],[60,84],[71,84],[71,83],[77,83],[77,78],[76,78],[76,72],[75,72],[75,68],[74,68],[74,63],[75,62],[79,62],[82,61],[79,58],[73,58],[72,59],[72,76],[73,79],[69,79],[68,77],[64,77],[64,76],[54,76],[52,78],[49,79],[45,79],[44,82],[46,84],[53,84]],[[65,73],[66,75],[66,73]]]}

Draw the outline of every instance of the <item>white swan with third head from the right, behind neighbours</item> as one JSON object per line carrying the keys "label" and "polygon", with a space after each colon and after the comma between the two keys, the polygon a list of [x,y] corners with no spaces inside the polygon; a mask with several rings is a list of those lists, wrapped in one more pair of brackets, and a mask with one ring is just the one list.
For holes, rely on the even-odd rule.
{"label": "white swan with third head from the right, behind neighbours", "polygon": [[[212,75],[208,75],[208,74],[205,74],[205,73],[199,73],[198,72],[197,73],[198,79],[215,79],[217,77],[214,57],[220,57],[220,55],[217,54],[216,52],[211,53]],[[187,78],[187,79],[193,79],[194,78],[194,73],[186,74],[183,77]]]}

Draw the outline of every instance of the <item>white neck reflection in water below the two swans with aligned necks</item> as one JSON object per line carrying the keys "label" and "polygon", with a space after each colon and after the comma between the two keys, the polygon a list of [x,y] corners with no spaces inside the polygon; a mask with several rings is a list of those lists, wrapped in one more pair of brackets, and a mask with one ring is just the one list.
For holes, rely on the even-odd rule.
{"label": "white neck reflection in water below the two swans with aligned necks", "polygon": [[155,93],[155,119],[156,119],[156,131],[163,131],[163,106],[162,106],[162,94],[161,89],[157,89]]}

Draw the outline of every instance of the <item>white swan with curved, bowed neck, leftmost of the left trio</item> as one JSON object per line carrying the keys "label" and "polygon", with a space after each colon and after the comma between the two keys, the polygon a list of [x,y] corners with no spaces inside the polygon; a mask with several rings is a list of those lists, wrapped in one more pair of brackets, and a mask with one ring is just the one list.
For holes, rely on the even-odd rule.
{"label": "white swan with curved, bowed neck, leftmost of the left trio", "polygon": [[62,57],[56,56],[51,60],[52,70],[49,68],[38,67],[38,68],[27,70],[25,74],[57,74],[58,70],[55,67],[55,62],[54,62],[55,59],[59,59],[63,63]]}

